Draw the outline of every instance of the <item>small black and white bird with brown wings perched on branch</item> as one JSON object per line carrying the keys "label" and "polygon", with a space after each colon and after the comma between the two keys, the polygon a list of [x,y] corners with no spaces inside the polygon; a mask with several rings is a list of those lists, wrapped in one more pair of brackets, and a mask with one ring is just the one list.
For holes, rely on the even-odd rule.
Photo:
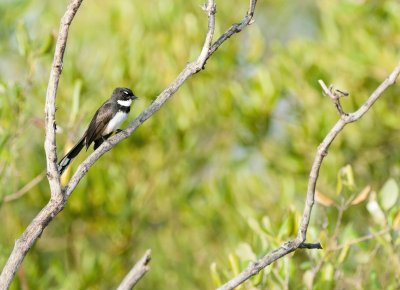
{"label": "small black and white bird with brown wings perched on branch", "polygon": [[118,129],[128,116],[131,105],[137,97],[128,88],[114,89],[111,97],[96,111],[89,127],[78,143],[58,162],[58,173],[63,174],[71,161],[94,142],[96,150]]}

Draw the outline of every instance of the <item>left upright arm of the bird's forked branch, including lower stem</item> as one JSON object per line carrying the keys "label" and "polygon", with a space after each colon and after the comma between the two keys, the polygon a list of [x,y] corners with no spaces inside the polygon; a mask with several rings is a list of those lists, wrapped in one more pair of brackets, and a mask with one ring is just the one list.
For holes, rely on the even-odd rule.
{"label": "left upright arm of the bird's forked branch, including lower stem", "polygon": [[62,196],[60,177],[57,171],[56,137],[55,137],[55,111],[56,94],[58,82],[62,71],[64,51],[67,44],[68,30],[76,12],[81,5],[82,0],[73,0],[69,4],[64,16],[61,19],[60,30],[57,37],[56,48],[54,52],[53,65],[50,72],[49,84],[46,94],[45,105],[45,151],[47,162],[47,178],[49,180],[51,200],[40,211],[27,227],[22,236],[15,242],[13,251],[3,271],[0,274],[0,289],[8,289],[15,273],[20,267],[23,259],[32,247],[33,243],[42,234],[47,224],[64,208],[65,202]]}

